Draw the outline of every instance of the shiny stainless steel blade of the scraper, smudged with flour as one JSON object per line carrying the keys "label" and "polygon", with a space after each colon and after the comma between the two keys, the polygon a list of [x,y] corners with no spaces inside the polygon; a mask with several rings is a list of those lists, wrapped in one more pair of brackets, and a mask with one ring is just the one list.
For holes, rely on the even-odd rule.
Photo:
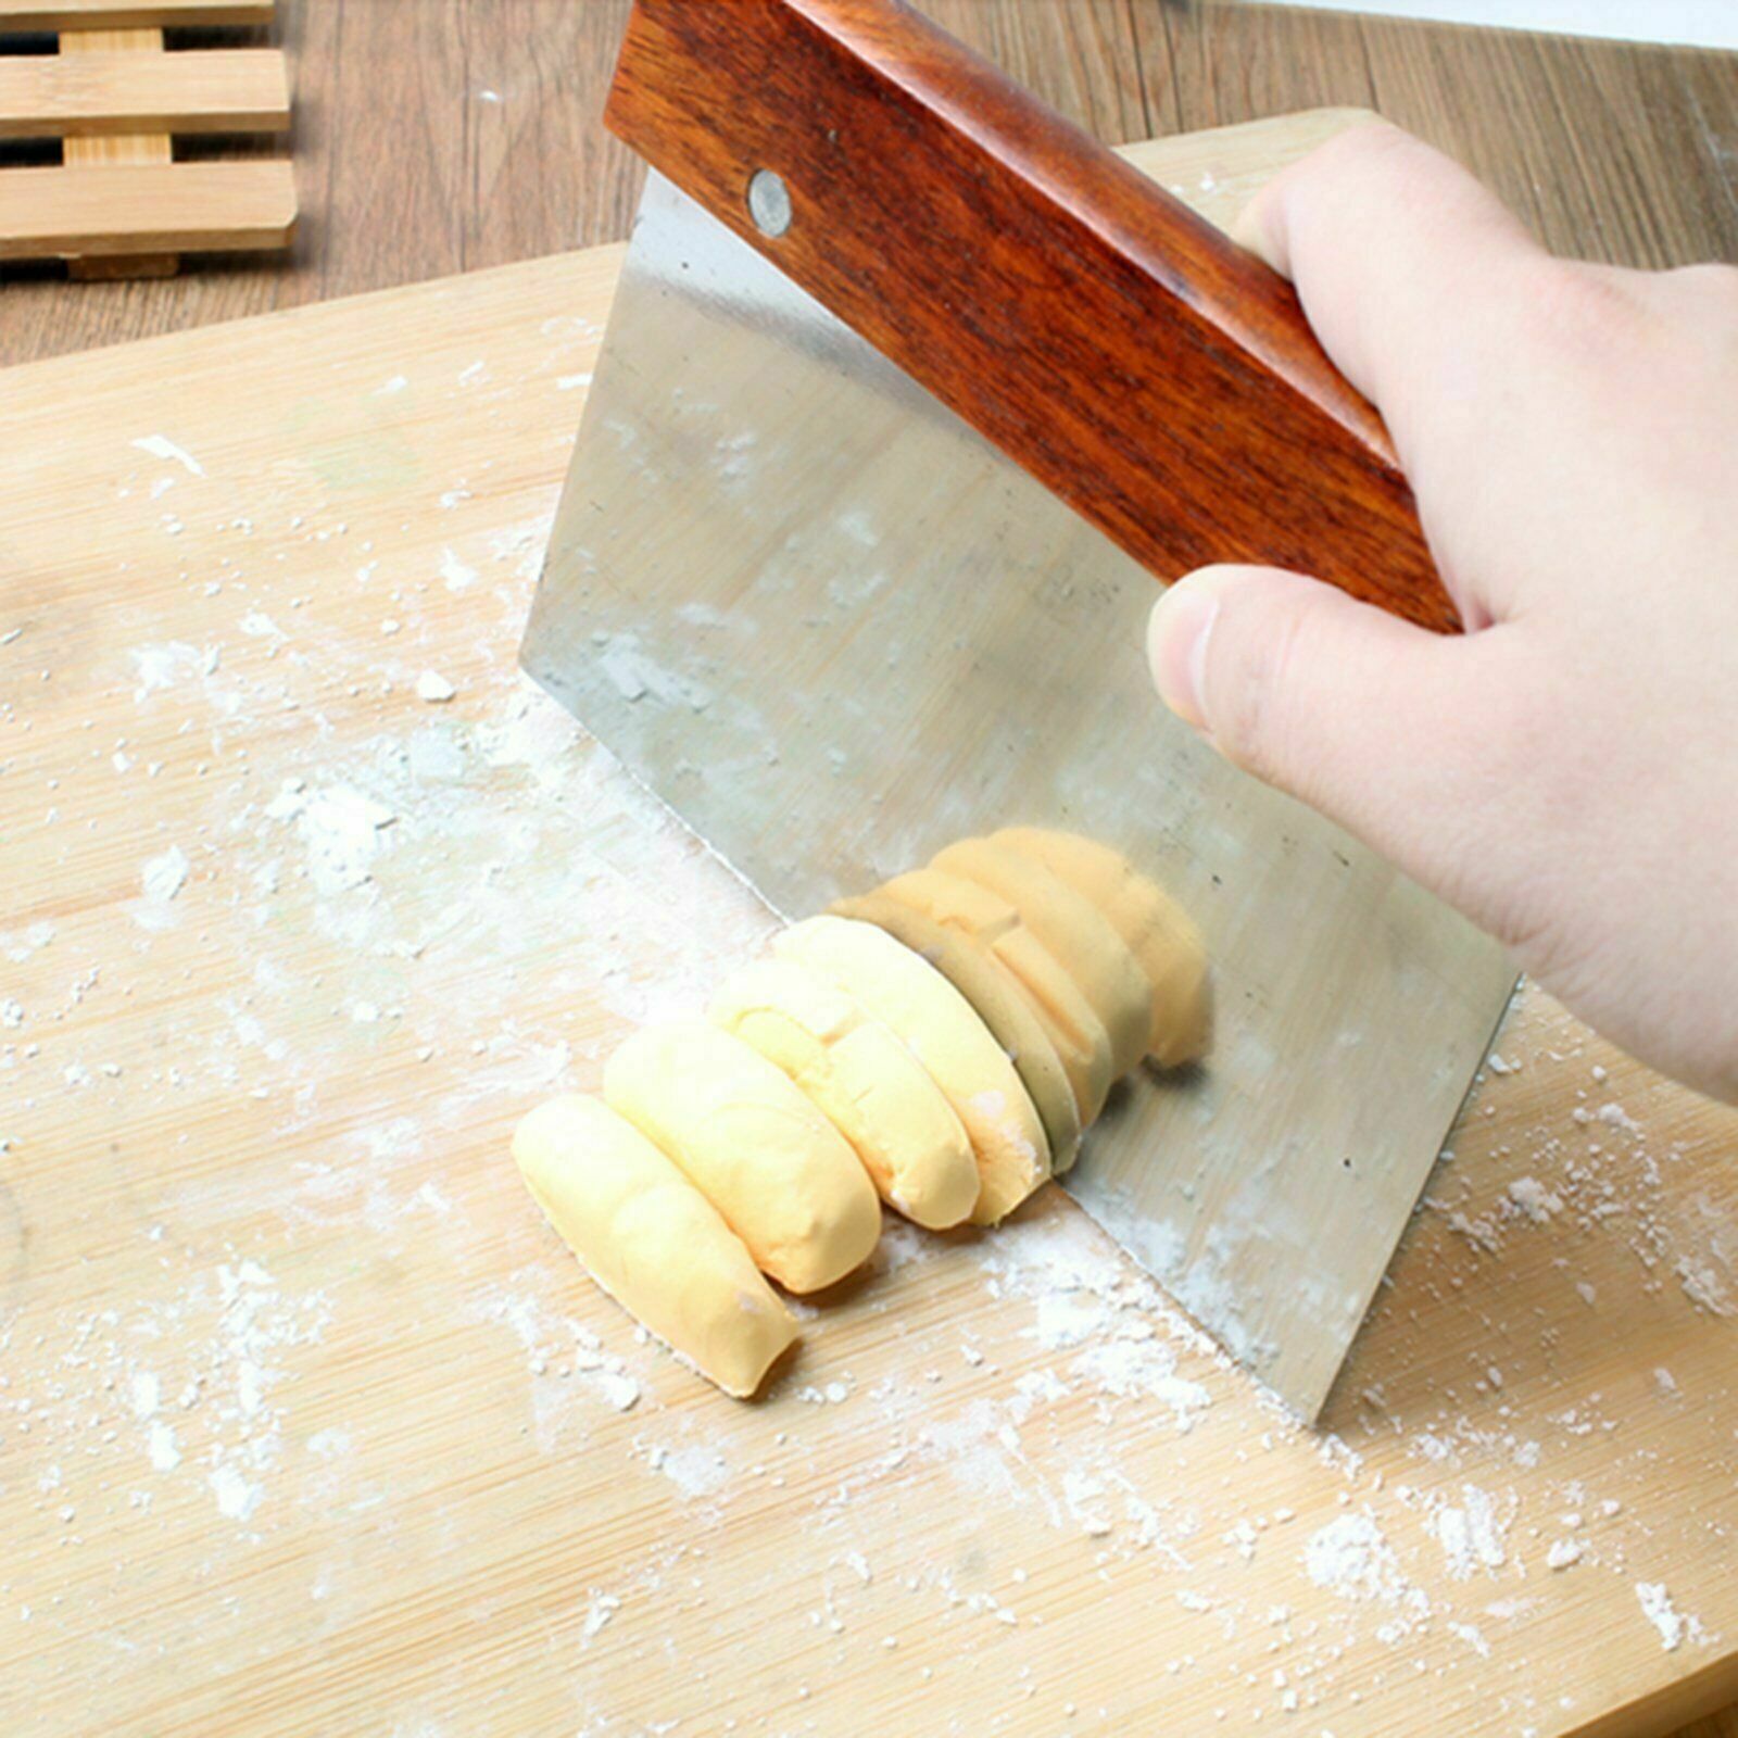
{"label": "shiny stainless steel blade of the scraper, smudged with flour", "polygon": [[1514,984],[1154,700],[1152,577],[652,177],[525,667],[787,916],[1015,822],[1206,935],[1206,1062],[1069,1192],[1314,1418]]}

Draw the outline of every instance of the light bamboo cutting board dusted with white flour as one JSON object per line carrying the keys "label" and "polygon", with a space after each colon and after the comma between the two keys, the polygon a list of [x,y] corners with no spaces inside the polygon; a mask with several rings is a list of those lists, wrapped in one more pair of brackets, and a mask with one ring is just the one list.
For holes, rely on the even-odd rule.
{"label": "light bamboo cutting board dusted with white flour", "polygon": [[[1224,221],[1338,123],[1133,155]],[[5,1729],[1543,1738],[1738,1693],[1738,1119],[1543,998],[1321,1436],[1053,1191],[890,1229],[758,1406],[580,1279],[513,1119],[768,933],[514,669],[617,262],[0,377]]]}

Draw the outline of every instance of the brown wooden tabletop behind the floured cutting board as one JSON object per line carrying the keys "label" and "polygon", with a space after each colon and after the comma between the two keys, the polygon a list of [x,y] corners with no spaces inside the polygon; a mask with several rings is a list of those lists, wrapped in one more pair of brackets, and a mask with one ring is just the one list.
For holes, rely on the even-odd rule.
{"label": "brown wooden tabletop behind the floured cutting board", "polygon": [[[285,5],[308,222],[289,268],[169,283],[0,280],[0,360],[47,356],[619,236],[636,172],[596,127],[624,0]],[[1319,103],[1383,109],[1472,163],[1554,245],[1635,264],[1738,257],[1729,57],[1159,0],[932,0],[1107,139]],[[1568,169],[1566,169],[1568,165]],[[1562,1024],[1566,1043],[1578,1041]],[[1611,1093],[1663,1147],[1733,1123],[1642,1071]],[[1562,1078],[1512,1088],[1549,1114]],[[1554,1107],[1559,1114],[1562,1105]],[[1698,1728],[1738,1735],[1738,1717]]]}

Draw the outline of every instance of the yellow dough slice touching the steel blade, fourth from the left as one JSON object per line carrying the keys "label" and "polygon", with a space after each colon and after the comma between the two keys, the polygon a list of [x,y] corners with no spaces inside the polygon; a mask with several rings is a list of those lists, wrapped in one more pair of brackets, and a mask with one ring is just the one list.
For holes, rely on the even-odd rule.
{"label": "yellow dough slice touching the steel blade, fourth from the left", "polygon": [[810,918],[772,945],[890,1027],[940,1086],[977,1158],[975,1225],[1006,1218],[1050,1175],[1045,1128],[1020,1076],[935,966],[876,925],[846,918]]}

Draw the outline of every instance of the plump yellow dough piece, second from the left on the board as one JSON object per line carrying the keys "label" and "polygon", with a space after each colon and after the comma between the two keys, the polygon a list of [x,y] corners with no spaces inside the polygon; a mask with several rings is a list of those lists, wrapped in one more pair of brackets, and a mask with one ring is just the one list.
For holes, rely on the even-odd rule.
{"label": "plump yellow dough piece, second from the left on the board", "polygon": [[605,1064],[603,1097],[787,1290],[831,1286],[874,1250],[881,1204],[857,1154],[740,1038],[706,1020],[648,1025]]}

